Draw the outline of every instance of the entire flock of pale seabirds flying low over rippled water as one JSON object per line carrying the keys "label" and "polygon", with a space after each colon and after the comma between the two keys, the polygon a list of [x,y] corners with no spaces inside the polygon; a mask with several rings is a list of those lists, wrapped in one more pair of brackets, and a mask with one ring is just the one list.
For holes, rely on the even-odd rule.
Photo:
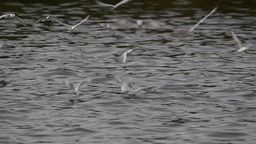
{"label": "entire flock of pale seabirds flying low over rippled water", "polygon": [[[115,4],[115,5],[111,5],[111,4],[106,4],[106,3],[103,3],[101,1],[98,1],[98,0],[95,0],[95,2],[98,4],[98,5],[102,5],[104,7],[112,7],[110,10],[113,10],[113,9],[116,9],[118,8],[121,4],[124,4],[124,3],[127,3],[131,0],[123,0],[121,2],[119,2],[118,4]],[[201,23],[203,23],[207,17],[211,16],[213,13],[215,13],[217,11],[218,7],[215,7],[208,15],[206,15],[205,17],[203,17],[202,20],[200,20],[198,23],[196,23],[196,25],[194,25],[193,27],[191,27],[189,29],[188,32],[193,32],[194,29],[201,25]],[[58,22],[60,23],[61,25],[63,26],[66,26],[66,27],[69,27],[69,30],[68,32],[69,33],[74,33],[75,32],[75,28],[79,25],[81,25],[82,23],[84,23],[86,20],[88,20],[90,17],[90,15],[86,16],[85,19],[83,19],[82,21],[80,21],[79,23],[77,23],[76,25],[74,26],[70,26],[66,23],[64,23],[61,19],[59,19],[58,17],[53,17],[53,16],[46,16],[46,17],[42,17],[40,18],[39,20],[37,20],[35,23],[38,23],[38,22],[45,22],[45,21],[55,21],[55,22]],[[0,16],[0,19],[16,19],[18,21],[21,22],[21,24],[25,27],[27,27],[27,24],[18,16],[16,16],[15,14],[4,14],[4,15],[1,15]],[[146,27],[159,27],[161,25],[164,25],[163,22],[158,22],[158,21],[154,21],[154,20],[133,20],[133,19],[119,19],[118,20],[119,23],[123,24],[123,25],[131,25],[131,26],[137,26],[139,28],[141,28],[142,26],[146,26]],[[114,32],[114,29],[108,25],[107,23],[101,23],[102,27],[105,27],[109,33],[115,37],[116,39],[118,39],[120,41],[120,39],[117,37],[117,34],[115,34]],[[232,34],[232,38],[234,39],[235,43],[236,43],[236,47],[237,47],[237,52],[244,52],[246,50],[249,49],[249,46],[251,46],[251,44],[248,44],[248,45],[242,45],[241,41],[236,37],[235,33],[233,31],[231,31],[231,34]],[[131,49],[131,50],[128,50],[128,51],[125,51],[122,55],[123,57],[123,65],[126,63],[127,61],[127,57],[129,55],[131,55],[132,52],[135,52],[135,51],[147,51],[148,49],[144,49],[144,48],[135,48],[135,49]],[[92,78],[89,77],[89,79],[86,81],[86,82],[91,82]],[[142,90],[146,90],[146,89],[150,89],[150,88],[153,88],[153,87],[142,87],[142,88],[133,88],[129,83],[127,82],[122,82],[120,81],[119,79],[115,78],[115,80],[119,83],[119,85],[121,86],[121,92],[122,93],[126,93],[126,92],[133,92],[133,94],[135,95],[136,92],[138,91],[142,91]],[[80,82],[78,83],[77,85],[75,85],[75,83],[73,82],[70,82],[70,81],[67,81],[67,80],[64,80],[63,83],[65,83],[65,85],[67,86],[68,89],[71,89],[75,94],[79,95],[79,86],[82,85],[85,81],[83,82]]]}

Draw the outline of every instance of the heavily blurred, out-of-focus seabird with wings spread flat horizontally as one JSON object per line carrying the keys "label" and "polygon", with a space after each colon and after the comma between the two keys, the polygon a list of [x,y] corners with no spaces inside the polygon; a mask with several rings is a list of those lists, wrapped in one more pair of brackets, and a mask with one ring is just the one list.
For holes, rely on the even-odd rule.
{"label": "heavily blurred, out-of-focus seabird with wings spread flat horizontally", "polygon": [[162,26],[166,25],[165,22],[155,21],[155,20],[136,20],[129,18],[123,19],[114,19],[117,21],[119,25],[126,26],[126,27],[135,27],[135,28],[150,28],[156,29],[161,28]]}

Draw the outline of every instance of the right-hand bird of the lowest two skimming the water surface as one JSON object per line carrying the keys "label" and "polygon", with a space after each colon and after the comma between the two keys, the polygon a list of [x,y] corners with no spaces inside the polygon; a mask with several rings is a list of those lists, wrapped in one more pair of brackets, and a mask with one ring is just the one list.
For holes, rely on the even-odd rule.
{"label": "right-hand bird of the lowest two skimming the water surface", "polygon": [[122,93],[127,93],[127,92],[132,92],[134,95],[136,94],[136,92],[138,91],[144,91],[146,89],[150,89],[150,88],[154,88],[154,87],[141,87],[141,88],[133,88],[129,83],[127,82],[121,82],[120,80],[118,80],[117,78],[115,78],[115,80],[119,83],[119,85],[121,86],[121,92]]}

